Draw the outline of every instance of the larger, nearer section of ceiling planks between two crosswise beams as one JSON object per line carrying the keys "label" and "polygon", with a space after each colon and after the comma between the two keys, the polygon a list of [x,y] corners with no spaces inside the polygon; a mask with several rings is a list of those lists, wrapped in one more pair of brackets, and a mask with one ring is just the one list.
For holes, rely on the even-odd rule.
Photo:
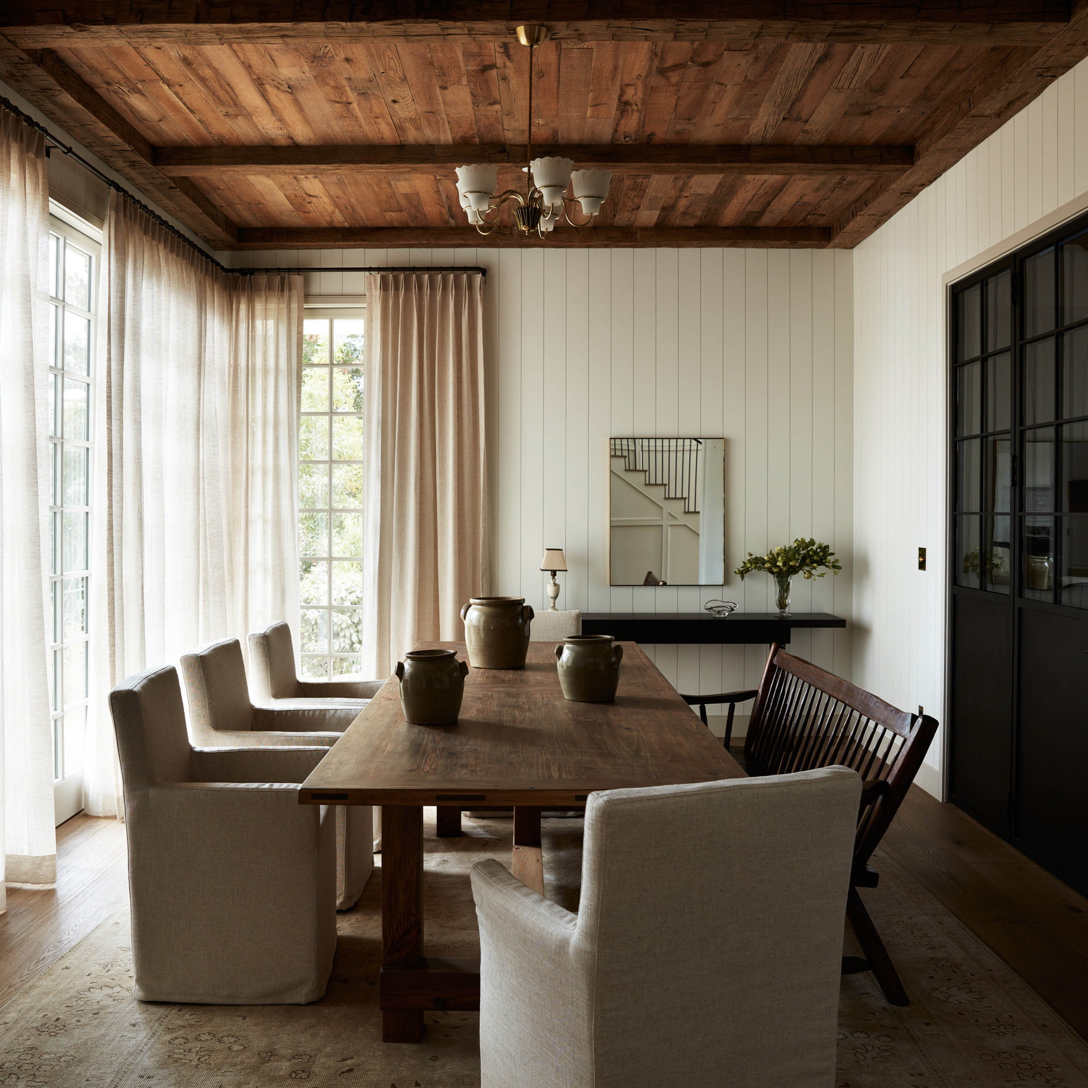
{"label": "larger, nearer section of ceiling planks between two crosswise beams", "polygon": [[[908,145],[935,110],[1015,52],[546,42],[533,143]],[[528,50],[517,42],[57,53],[156,145],[526,143]]]}

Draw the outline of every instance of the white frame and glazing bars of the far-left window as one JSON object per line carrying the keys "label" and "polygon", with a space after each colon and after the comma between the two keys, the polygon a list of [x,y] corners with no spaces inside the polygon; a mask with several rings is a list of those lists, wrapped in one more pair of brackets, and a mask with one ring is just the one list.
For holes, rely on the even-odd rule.
{"label": "white frame and glazing bars of the far-left window", "polygon": [[[67,209],[50,202],[49,236],[50,259],[59,246],[61,259],[57,261],[55,275],[49,285],[49,316],[51,321],[50,349],[51,357],[46,360],[49,369],[49,398],[52,425],[49,431],[49,594],[50,627],[49,635],[49,679],[50,679],[50,725],[53,740],[53,807],[57,824],[74,816],[83,808],[84,761],[83,752],[86,743],[87,714],[89,705],[90,673],[90,589],[91,568],[94,566],[90,541],[90,511],[94,504],[95,475],[95,383],[97,376],[96,348],[98,341],[99,312],[99,280],[100,262],[102,260],[101,232],[90,223],[82,223]],[[59,213],[58,213],[59,212]],[[76,249],[90,258],[89,270],[89,309],[83,309],[67,300],[64,276],[64,261],[69,249]],[[63,321],[64,314],[72,313],[76,318],[86,319],[87,336],[87,373],[66,371],[63,367]],[[78,382],[87,386],[86,392],[86,430],[85,437],[77,438],[64,434],[64,388],[65,382]],[[67,504],[64,502],[64,450],[84,448],[85,467],[85,503]],[[84,521],[84,558],[82,568],[64,569],[64,520],[65,515],[82,516]],[[83,581],[83,630],[79,633],[65,634],[65,588],[67,583],[81,579]],[[78,607],[78,605],[76,606]],[[84,683],[83,693],[74,698],[66,698],[64,663],[67,654],[75,647],[83,647]],[[65,719],[67,724],[65,724]],[[73,721],[74,719],[74,721]],[[76,738],[78,732],[78,738]]]}

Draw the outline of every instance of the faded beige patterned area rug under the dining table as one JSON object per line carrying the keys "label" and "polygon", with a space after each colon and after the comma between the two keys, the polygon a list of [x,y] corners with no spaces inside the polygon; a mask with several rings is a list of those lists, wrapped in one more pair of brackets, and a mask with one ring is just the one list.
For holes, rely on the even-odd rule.
{"label": "faded beige patterned area rug under the dining table", "polygon": [[[430,813],[433,817],[433,811]],[[507,820],[426,837],[426,947],[472,955],[468,871],[509,863]],[[577,908],[581,820],[545,820],[548,898]],[[1084,1088],[1088,1048],[1018,976],[887,855],[865,899],[912,998],[889,1006],[868,975],[843,979],[839,1088]],[[326,997],[312,1005],[165,1005],[132,998],[127,916],[109,918],[0,1009],[4,1088],[367,1088],[479,1085],[477,1015],[426,1016],[418,1046],[383,1044],[376,979],[381,871],[339,916]]]}

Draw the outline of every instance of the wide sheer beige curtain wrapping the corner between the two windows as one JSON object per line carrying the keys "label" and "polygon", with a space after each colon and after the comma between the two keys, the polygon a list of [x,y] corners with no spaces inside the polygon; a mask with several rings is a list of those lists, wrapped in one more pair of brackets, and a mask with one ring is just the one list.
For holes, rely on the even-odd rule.
{"label": "wide sheer beige curtain wrapping the corner between the two windows", "polygon": [[124,198],[107,224],[87,811],[120,815],[111,687],[298,609],[301,276],[239,276]]}

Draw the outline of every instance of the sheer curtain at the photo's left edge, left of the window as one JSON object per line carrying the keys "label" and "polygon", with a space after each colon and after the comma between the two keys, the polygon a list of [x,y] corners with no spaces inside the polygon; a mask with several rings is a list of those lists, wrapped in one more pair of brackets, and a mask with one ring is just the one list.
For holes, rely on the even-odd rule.
{"label": "sheer curtain at the photo's left edge, left of the window", "polygon": [[45,136],[0,113],[0,912],[57,876],[46,670],[49,187]]}

